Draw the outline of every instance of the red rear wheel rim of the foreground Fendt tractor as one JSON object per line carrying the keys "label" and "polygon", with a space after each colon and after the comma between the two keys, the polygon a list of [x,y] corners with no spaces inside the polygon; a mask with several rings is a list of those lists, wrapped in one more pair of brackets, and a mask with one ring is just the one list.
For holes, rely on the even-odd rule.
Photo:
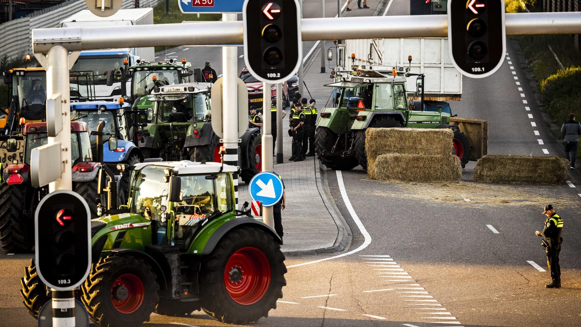
{"label": "red rear wheel rim of the foreground Fendt tractor", "polygon": [[270,264],[266,255],[255,247],[236,251],[224,269],[224,285],[238,304],[250,305],[264,297],[270,286]]}

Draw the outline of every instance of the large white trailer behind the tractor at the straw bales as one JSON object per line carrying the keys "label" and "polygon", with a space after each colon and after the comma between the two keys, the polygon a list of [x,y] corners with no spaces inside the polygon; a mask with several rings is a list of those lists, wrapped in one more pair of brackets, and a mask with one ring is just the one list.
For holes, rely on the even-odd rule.
{"label": "large white trailer behind the tractor at the straw bales", "polygon": [[[366,69],[372,69],[375,65],[397,69],[410,67],[409,73],[425,74],[426,100],[461,99],[462,74],[452,65],[447,38],[346,40],[345,44],[338,44],[338,52],[338,71],[350,70],[352,65],[366,66]],[[354,60],[351,59],[352,54]],[[408,62],[408,56],[411,56],[411,63]],[[407,90],[415,93],[416,79],[407,80]]]}

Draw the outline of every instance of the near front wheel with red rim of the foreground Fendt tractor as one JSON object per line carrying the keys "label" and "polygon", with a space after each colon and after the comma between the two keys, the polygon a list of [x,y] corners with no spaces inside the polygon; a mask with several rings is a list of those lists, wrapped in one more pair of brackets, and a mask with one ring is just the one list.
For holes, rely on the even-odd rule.
{"label": "near front wheel with red rim of the foreground Fendt tractor", "polygon": [[134,327],[149,321],[159,302],[151,266],[140,258],[113,255],[91,265],[81,301],[102,327]]}

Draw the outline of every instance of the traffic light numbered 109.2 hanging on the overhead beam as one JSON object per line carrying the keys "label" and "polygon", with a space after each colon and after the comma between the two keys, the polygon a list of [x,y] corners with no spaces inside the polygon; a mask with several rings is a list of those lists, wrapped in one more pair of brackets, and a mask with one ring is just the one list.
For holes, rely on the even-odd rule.
{"label": "traffic light numbered 109.2 hanging on the overhead beam", "polygon": [[258,80],[288,80],[302,60],[297,0],[246,0],[243,5],[244,61]]}

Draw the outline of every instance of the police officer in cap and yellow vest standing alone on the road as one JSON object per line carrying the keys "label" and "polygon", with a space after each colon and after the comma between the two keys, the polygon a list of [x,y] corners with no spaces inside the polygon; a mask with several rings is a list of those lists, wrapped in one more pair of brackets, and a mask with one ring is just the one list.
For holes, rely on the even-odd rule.
{"label": "police officer in cap and yellow vest standing alone on the road", "polygon": [[553,282],[547,284],[548,289],[558,289],[561,287],[561,266],[559,265],[559,254],[561,253],[561,243],[563,238],[563,219],[555,214],[555,209],[552,204],[547,204],[544,207],[543,214],[547,216],[544,222],[543,232],[538,230],[535,232],[536,236],[543,237],[543,247],[547,254],[547,266],[551,272],[551,279]]}

